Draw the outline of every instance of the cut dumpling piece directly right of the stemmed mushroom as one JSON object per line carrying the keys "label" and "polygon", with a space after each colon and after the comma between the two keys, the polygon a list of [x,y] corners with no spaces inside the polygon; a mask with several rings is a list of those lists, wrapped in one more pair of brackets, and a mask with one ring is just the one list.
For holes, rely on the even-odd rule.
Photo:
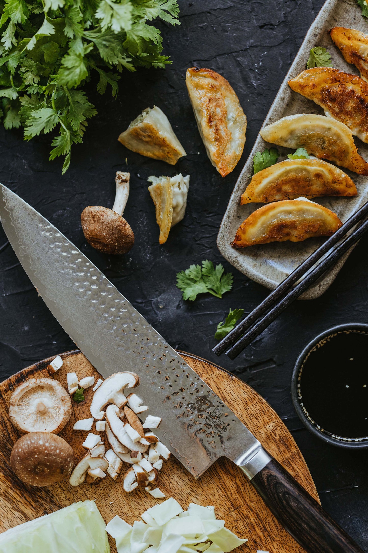
{"label": "cut dumpling piece directly right of the stemmed mushroom", "polygon": [[148,186],[148,190],[156,207],[156,222],[160,229],[160,244],[164,244],[167,241],[170,228],[177,225],[184,217],[189,179],[190,175],[183,177],[181,173],[173,177],[148,177],[148,181],[152,182],[151,186]]}

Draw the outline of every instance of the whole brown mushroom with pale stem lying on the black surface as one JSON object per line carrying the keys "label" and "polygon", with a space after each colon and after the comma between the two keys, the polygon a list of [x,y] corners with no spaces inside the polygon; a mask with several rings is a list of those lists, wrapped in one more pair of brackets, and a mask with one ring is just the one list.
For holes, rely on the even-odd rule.
{"label": "whole brown mushroom with pale stem lying on the black surface", "polygon": [[82,211],[81,221],[87,242],[100,252],[127,253],[134,246],[134,232],[122,217],[129,196],[130,173],[117,171],[116,195],[112,209],[88,206]]}

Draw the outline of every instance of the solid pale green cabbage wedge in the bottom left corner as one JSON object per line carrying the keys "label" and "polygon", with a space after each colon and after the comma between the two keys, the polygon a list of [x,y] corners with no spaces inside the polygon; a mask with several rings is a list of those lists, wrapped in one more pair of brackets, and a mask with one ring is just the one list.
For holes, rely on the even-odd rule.
{"label": "solid pale green cabbage wedge in the bottom left corner", "polygon": [[94,501],[79,501],[0,534],[0,553],[110,553]]}

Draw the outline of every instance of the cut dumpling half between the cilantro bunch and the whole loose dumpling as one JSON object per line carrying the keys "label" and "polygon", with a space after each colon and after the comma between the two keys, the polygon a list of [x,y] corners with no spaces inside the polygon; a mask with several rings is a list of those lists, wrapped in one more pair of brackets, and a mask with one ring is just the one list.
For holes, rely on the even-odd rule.
{"label": "cut dumpling half between the cilantro bunch and the whole loose dumpling", "polygon": [[170,165],[175,165],[179,158],[186,155],[168,118],[157,106],[143,109],[118,140],[133,152],[166,161]]}

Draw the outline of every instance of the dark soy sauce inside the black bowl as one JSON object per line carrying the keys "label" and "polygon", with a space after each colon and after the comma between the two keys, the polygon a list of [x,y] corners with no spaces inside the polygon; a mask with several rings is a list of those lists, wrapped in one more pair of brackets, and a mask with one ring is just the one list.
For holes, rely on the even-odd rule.
{"label": "dark soy sauce inside the black bowl", "polygon": [[357,331],[324,338],[310,353],[299,400],[317,428],[350,439],[368,437],[367,354],[368,335]]}

